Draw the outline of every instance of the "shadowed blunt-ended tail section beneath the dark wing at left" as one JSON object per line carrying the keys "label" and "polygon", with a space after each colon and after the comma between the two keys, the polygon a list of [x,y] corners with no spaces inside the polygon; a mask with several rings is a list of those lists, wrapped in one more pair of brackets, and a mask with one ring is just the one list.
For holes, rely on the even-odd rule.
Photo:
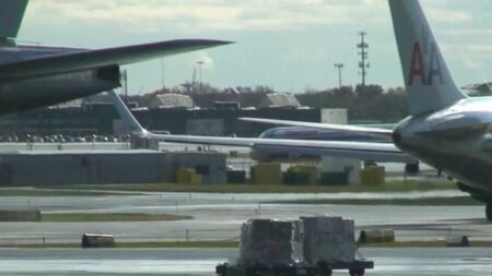
{"label": "shadowed blunt-ended tail section beneath the dark wing at left", "polygon": [[118,65],[0,84],[0,115],[50,106],[120,86]]}

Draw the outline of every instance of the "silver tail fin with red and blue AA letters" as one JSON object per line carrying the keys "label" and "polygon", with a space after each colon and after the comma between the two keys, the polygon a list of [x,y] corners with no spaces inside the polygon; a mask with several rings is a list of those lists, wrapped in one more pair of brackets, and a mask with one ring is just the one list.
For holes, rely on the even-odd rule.
{"label": "silver tail fin with red and blue AA letters", "polygon": [[388,0],[411,115],[435,111],[467,96],[456,86],[419,0]]}

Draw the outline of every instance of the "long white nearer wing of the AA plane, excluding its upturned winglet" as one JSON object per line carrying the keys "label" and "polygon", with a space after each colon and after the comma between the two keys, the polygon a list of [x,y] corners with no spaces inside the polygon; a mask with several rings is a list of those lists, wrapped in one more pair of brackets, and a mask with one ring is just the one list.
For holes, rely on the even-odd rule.
{"label": "long white nearer wing of the AA plane, excluding its upturned winglet", "polygon": [[153,133],[148,133],[148,137],[164,142],[185,144],[269,147],[270,149],[278,149],[295,154],[354,158],[363,161],[405,164],[417,161],[414,158],[402,153],[391,143],[214,137]]}

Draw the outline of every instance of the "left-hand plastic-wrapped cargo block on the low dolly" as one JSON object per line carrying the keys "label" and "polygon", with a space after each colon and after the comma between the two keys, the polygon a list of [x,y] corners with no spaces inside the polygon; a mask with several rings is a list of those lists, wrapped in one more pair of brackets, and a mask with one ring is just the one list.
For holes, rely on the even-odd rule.
{"label": "left-hand plastic-wrapped cargo block on the low dolly", "polygon": [[[254,219],[241,229],[239,259],[243,265],[289,265],[302,255],[293,245],[293,237],[300,231],[292,221]],[[295,249],[295,250],[294,250]]]}

